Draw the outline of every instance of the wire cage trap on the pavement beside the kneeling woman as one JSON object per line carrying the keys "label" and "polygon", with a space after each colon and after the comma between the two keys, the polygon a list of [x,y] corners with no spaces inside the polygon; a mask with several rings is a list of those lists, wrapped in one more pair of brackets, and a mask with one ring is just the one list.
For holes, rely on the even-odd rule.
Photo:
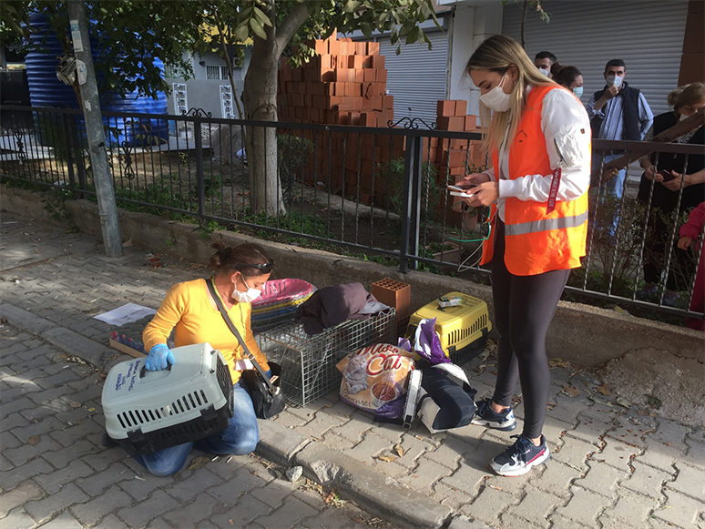
{"label": "wire cage trap on the pavement beside the kneeling woman", "polygon": [[308,403],[332,392],[342,375],[335,365],[353,351],[374,343],[396,343],[394,310],[369,320],[346,320],[309,336],[303,326],[287,323],[258,335],[268,360],[281,365],[281,390],[292,406]]}

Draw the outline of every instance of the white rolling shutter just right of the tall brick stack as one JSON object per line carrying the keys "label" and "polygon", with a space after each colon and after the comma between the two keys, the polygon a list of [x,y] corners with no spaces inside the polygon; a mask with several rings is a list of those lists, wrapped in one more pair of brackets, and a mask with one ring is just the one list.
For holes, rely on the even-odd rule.
{"label": "white rolling shutter just right of the tall brick stack", "polygon": [[435,121],[436,102],[445,99],[448,73],[448,33],[426,34],[433,44],[402,46],[396,55],[396,45],[389,37],[380,37],[380,54],[387,56],[387,90],[394,97],[394,121],[402,117],[420,117],[429,125]]}

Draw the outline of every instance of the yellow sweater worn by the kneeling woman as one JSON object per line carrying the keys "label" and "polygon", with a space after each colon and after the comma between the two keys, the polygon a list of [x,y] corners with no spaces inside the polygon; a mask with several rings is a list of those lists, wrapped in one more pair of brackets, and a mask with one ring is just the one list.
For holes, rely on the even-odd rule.
{"label": "yellow sweater worn by the kneeling woman", "polygon": [[[264,371],[270,369],[267,359],[260,351],[250,328],[250,303],[235,303],[228,315],[240,335],[247,343],[250,352]],[[220,311],[209,298],[206,280],[193,280],[174,285],[161,302],[157,314],[144,332],[142,340],[149,351],[158,343],[167,343],[167,337],[174,330],[176,347],[194,343],[209,342],[228,361],[232,383],[240,380],[240,371],[235,370],[235,361],[245,358],[238,339],[230,332]],[[176,358],[179,361],[179,357]]]}

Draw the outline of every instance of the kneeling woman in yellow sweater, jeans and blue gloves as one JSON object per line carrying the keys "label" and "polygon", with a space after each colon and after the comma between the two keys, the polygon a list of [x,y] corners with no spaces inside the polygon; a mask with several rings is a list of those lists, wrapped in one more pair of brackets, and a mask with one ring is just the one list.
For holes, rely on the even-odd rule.
{"label": "kneeling woman in yellow sweater, jeans and blue gloves", "polygon": [[[215,289],[255,360],[271,376],[267,359],[252,335],[250,303],[260,296],[262,286],[270,278],[273,263],[255,244],[230,248],[219,241],[212,246],[217,250],[210,258],[210,264],[216,270],[213,278]],[[252,369],[252,364],[243,358],[242,347],[223,320],[206,281],[209,280],[178,283],[167,292],[157,314],[142,334],[145,349],[149,351],[145,367],[149,371],[158,371],[179,361],[179,357],[175,358],[167,345],[167,337],[172,329],[177,347],[209,342],[213,348],[220,350],[228,362],[234,384],[234,414],[223,432],[196,443],[179,444],[154,453],[134,456],[138,463],[158,476],[178,472],[186,463],[191,448],[205,453],[243,455],[252,452],[259,441],[257,417],[250,393],[240,384],[241,372]]]}

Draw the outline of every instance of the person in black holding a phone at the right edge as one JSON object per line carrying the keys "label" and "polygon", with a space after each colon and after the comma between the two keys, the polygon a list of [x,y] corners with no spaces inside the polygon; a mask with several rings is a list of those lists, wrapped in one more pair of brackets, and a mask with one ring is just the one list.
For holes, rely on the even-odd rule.
{"label": "person in black holding a phone at the right edge", "polygon": [[[685,86],[675,102],[673,111],[654,117],[653,127],[649,128],[645,139],[649,141],[652,137],[674,127],[679,121],[692,116],[702,107],[705,107],[705,85],[692,83]],[[702,146],[705,144],[705,127],[700,125],[697,129],[676,139],[676,143]],[[647,300],[659,290],[661,274],[665,271],[670,252],[669,240],[673,233],[673,223],[678,222],[673,213],[679,200],[679,213],[689,211],[705,200],[705,156],[702,152],[700,148],[698,153],[690,154],[687,168],[684,154],[652,153],[639,162],[644,168],[644,174],[639,182],[638,198],[645,205],[649,204],[650,198],[651,203],[644,244],[644,286],[637,291],[639,300]],[[688,171],[685,175],[684,170]],[[681,182],[682,196],[680,196]],[[686,252],[680,249],[674,249],[671,256],[663,304],[675,307],[679,299],[679,291],[690,289],[693,264]]]}

